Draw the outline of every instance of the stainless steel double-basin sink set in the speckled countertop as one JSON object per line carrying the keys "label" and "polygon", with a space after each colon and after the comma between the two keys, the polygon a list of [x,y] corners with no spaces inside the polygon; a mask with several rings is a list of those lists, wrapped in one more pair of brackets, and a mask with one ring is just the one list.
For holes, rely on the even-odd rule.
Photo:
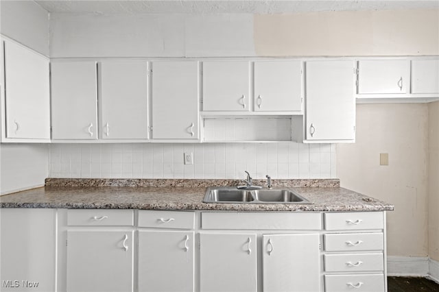
{"label": "stainless steel double-basin sink set in the speckled countertop", "polygon": [[237,189],[234,186],[210,186],[204,203],[233,204],[312,204],[289,188]]}

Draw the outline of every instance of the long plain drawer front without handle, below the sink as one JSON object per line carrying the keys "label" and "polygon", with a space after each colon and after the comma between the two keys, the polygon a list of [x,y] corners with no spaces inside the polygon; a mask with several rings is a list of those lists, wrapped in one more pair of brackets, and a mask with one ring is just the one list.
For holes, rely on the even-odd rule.
{"label": "long plain drawer front without handle, below the sink", "polygon": [[321,230],[320,213],[202,212],[203,229]]}

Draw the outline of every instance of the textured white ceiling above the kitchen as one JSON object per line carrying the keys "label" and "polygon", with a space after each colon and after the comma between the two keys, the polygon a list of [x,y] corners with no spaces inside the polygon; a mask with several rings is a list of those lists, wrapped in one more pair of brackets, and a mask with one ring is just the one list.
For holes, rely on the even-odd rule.
{"label": "textured white ceiling above the kitchen", "polygon": [[315,0],[36,0],[49,12],[93,14],[145,14],[145,13],[294,13],[348,10],[397,10],[439,8],[439,0],[418,1],[315,1]]}

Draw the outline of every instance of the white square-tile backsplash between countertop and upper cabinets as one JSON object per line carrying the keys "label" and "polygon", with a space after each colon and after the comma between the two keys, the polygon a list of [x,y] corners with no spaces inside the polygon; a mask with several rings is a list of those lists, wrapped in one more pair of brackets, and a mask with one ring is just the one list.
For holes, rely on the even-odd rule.
{"label": "white square-tile backsplash between countertop and upper cabinets", "polygon": [[[184,154],[193,154],[193,165]],[[115,143],[49,145],[51,178],[335,178],[335,144]]]}

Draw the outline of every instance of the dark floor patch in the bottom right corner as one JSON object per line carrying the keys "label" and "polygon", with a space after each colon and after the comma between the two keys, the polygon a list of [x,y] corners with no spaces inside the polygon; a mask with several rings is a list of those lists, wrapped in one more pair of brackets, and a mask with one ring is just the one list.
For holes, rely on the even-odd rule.
{"label": "dark floor patch in the bottom right corner", "polygon": [[438,291],[439,284],[426,278],[388,277],[388,292]]}

